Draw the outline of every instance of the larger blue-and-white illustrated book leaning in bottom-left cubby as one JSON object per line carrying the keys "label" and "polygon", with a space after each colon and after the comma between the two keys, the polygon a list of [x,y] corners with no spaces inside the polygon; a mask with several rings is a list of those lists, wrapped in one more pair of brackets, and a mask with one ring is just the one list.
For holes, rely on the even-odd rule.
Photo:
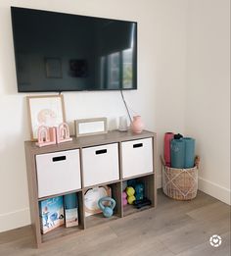
{"label": "larger blue-and-white illustrated book leaning in bottom-left cubby", "polygon": [[39,211],[42,233],[47,233],[65,224],[63,196],[41,201]]}

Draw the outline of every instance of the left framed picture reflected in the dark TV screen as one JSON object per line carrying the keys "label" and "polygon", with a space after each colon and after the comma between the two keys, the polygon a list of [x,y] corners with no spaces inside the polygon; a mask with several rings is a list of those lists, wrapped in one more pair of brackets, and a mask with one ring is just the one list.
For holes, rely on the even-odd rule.
{"label": "left framed picture reflected in the dark TV screen", "polygon": [[59,58],[45,58],[46,77],[62,78],[62,63]]}

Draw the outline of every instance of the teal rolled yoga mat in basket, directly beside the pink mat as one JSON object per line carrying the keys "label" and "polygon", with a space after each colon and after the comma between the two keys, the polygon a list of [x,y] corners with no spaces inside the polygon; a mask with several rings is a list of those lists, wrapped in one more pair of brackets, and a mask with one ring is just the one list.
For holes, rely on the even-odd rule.
{"label": "teal rolled yoga mat in basket, directly beside the pink mat", "polygon": [[185,164],[185,141],[184,139],[171,140],[171,167],[184,168]]}

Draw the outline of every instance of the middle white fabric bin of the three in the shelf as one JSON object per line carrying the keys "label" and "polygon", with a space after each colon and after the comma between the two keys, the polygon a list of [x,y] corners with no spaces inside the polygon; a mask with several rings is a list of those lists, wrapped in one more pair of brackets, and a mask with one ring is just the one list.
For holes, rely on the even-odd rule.
{"label": "middle white fabric bin of the three in the shelf", "polygon": [[82,149],[84,186],[119,179],[117,143]]}

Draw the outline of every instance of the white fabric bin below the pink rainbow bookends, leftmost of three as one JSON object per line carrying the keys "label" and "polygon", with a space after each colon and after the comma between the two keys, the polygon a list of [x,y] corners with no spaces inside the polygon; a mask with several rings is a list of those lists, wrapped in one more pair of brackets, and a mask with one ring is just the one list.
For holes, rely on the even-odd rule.
{"label": "white fabric bin below the pink rainbow bookends, leftmost of three", "polygon": [[79,149],[36,155],[38,197],[81,188]]}

